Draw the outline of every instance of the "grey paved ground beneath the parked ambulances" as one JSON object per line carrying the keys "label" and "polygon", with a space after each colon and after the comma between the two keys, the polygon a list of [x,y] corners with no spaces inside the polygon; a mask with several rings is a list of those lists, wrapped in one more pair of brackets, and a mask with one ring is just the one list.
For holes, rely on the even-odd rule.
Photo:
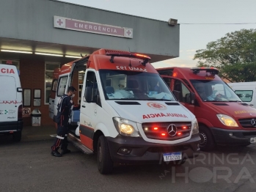
{"label": "grey paved ground beneath the parked ambulances", "polygon": [[28,128],[19,143],[0,136],[0,191],[256,191],[255,144],[202,152],[182,166],[121,166],[101,175],[95,155],[72,145],[70,154],[51,156],[55,130],[40,129]]}

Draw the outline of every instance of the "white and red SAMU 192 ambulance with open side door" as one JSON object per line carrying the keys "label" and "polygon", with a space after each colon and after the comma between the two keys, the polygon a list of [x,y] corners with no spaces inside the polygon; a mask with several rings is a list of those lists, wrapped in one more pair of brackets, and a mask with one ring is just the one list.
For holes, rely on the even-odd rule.
{"label": "white and red SAMU 192 ambulance with open side door", "polygon": [[68,138],[84,153],[97,153],[101,174],[115,164],[183,163],[199,150],[197,119],[175,100],[149,60],[100,49],[59,71],[54,117],[68,86],[77,87],[74,70],[84,71],[81,108],[71,113]]}

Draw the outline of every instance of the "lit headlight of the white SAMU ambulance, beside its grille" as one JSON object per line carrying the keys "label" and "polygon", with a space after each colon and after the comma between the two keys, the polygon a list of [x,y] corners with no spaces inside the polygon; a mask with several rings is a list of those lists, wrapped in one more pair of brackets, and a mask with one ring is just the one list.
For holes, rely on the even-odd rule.
{"label": "lit headlight of the white SAMU ambulance, beside its grille", "polygon": [[137,128],[136,122],[120,117],[114,117],[113,122],[117,132],[120,133],[120,135],[139,137],[139,130]]}

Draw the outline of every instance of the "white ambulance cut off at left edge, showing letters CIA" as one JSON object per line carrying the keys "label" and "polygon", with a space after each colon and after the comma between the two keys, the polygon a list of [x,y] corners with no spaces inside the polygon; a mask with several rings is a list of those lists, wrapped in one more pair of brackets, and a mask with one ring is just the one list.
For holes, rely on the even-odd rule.
{"label": "white ambulance cut off at left edge, showing letters CIA", "polygon": [[22,89],[18,70],[9,64],[0,64],[0,134],[12,134],[21,141]]}

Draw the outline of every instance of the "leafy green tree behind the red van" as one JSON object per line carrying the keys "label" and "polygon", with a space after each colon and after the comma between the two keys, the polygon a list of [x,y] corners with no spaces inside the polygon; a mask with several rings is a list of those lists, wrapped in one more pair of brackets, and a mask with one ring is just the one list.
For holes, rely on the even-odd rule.
{"label": "leafy green tree behind the red van", "polygon": [[256,29],[241,29],[197,50],[198,67],[217,67],[231,81],[256,81]]}

